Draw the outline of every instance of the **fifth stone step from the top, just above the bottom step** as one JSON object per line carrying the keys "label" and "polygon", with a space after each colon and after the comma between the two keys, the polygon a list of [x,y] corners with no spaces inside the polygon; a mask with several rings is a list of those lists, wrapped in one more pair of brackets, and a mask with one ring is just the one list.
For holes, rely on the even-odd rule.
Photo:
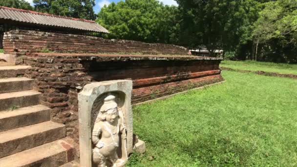
{"label": "fifth stone step from the top, just above the bottom step", "polygon": [[59,140],[65,136],[65,125],[51,121],[0,132],[0,158]]}

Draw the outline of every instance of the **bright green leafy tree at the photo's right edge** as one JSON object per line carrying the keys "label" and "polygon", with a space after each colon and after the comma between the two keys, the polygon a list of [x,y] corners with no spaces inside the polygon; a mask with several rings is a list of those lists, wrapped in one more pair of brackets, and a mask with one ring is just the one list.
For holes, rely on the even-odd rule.
{"label": "bright green leafy tree at the photo's right edge", "polygon": [[297,1],[277,0],[265,3],[255,22],[253,37],[259,43],[259,59],[297,62]]}

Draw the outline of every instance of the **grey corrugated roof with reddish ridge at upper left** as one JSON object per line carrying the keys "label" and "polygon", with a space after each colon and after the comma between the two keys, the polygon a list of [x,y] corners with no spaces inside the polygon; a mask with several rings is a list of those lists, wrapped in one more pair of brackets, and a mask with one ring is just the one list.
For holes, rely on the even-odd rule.
{"label": "grey corrugated roof with reddish ridge at upper left", "polygon": [[74,28],[78,30],[85,30],[91,32],[109,33],[103,26],[99,25],[95,21],[76,19],[64,16],[56,16],[47,13],[40,13],[35,11],[15,9],[3,6],[0,6],[0,19],[41,24],[47,26]]}

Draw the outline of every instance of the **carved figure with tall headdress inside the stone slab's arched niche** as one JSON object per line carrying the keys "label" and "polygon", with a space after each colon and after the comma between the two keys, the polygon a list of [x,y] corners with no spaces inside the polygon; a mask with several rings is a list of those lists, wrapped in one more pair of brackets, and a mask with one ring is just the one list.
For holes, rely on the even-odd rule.
{"label": "carved figure with tall headdress inside the stone slab's arched niche", "polygon": [[92,161],[95,167],[124,167],[127,163],[127,131],[124,115],[114,95],[105,96],[95,111]]}

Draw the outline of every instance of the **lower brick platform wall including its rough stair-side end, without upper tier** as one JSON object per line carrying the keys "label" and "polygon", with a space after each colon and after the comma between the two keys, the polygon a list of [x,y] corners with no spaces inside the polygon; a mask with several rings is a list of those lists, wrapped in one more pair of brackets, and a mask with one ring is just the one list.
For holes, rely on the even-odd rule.
{"label": "lower brick platform wall including its rough stair-side end, without upper tier", "polygon": [[224,79],[220,60],[195,57],[84,56],[31,54],[24,63],[32,68],[25,77],[34,78],[34,89],[42,92],[41,103],[52,108],[52,121],[66,125],[67,136],[78,142],[78,93],[96,81],[130,79],[132,103],[178,93]]}

